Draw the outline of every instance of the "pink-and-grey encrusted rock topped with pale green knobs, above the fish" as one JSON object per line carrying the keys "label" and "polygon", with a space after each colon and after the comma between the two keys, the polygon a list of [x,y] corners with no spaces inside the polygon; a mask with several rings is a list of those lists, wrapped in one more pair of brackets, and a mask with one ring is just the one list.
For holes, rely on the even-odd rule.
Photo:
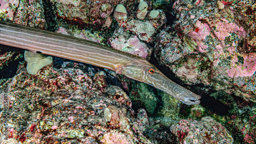
{"label": "pink-and-grey encrusted rock topped with pale green knobs, above the fish", "polygon": [[[110,39],[114,49],[121,50],[133,55],[146,58],[151,55],[146,43],[152,42],[157,31],[165,26],[167,20],[165,13],[161,10],[153,10],[153,14],[147,14],[151,9],[147,2],[141,1],[135,13],[126,12],[123,5],[118,5],[114,12],[114,18],[118,22],[119,28]],[[136,19],[137,18],[137,19]],[[135,36],[131,36],[132,33]]]}

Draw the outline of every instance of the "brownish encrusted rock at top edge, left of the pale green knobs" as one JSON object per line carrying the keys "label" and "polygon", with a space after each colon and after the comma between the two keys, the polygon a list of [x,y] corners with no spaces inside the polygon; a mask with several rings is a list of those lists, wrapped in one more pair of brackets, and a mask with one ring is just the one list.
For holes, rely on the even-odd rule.
{"label": "brownish encrusted rock at top edge, left of the pale green knobs", "polygon": [[57,17],[65,19],[71,23],[76,23],[80,27],[110,26],[109,22],[114,7],[123,4],[127,12],[131,12],[136,1],[66,1],[52,0],[51,3],[56,7]]}

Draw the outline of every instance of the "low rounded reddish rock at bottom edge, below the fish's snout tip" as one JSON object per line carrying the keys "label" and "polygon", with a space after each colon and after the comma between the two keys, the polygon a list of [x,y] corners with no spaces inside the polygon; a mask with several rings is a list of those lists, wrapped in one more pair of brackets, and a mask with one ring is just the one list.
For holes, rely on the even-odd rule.
{"label": "low rounded reddish rock at bottom edge, below the fish's snout tip", "polygon": [[179,143],[232,143],[233,138],[224,126],[211,117],[203,117],[200,122],[182,119],[170,127]]}

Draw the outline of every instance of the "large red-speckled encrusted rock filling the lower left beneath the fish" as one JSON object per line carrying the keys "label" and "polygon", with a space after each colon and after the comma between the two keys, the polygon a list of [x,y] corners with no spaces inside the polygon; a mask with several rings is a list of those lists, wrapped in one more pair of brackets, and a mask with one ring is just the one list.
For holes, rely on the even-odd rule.
{"label": "large red-speckled encrusted rock filling the lower left beneath the fish", "polygon": [[[10,105],[9,137],[2,142],[151,143],[141,130],[132,129],[138,122],[124,91],[93,88],[91,78],[80,69],[85,67],[82,64],[61,66],[53,67],[44,79],[33,79],[20,64],[11,82],[5,82],[5,88],[1,85],[0,96],[7,95]],[[112,115],[110,122],[103,116],[106,108]],[[5,122],[4,116],[0,122]]]}

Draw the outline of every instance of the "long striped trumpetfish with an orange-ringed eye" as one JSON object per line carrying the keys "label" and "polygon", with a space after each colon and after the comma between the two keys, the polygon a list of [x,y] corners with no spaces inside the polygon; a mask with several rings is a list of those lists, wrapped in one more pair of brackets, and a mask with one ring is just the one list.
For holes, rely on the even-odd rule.
{"label": "long striped trumpetfish with an orange-ringed eye", "polygon": [[0,21],[0,43],[108,68],[152,85],[184,104],[200,104],[200,95],[168,79],[146,59],[100,43],[4,21]]}

